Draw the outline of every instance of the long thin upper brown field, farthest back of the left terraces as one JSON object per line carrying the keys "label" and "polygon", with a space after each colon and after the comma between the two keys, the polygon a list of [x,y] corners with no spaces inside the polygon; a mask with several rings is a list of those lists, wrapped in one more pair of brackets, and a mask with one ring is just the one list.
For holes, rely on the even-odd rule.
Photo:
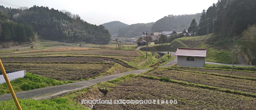
{"label": "long thin upper brown field, farthest back of the left terraces", "polygon": [[[46,50],[48,51],[48,50]],[[90,55],[114,55],[114,56],[142,56],[140,52],[136,50],[73,50],[73,51],[54,51],[54,52],[32,52],[32,53],[19,53],[19,54],[4,54],[2,57],[11,56],[31,56],[31,55],[46,55],[46,54],[90,54]]]}

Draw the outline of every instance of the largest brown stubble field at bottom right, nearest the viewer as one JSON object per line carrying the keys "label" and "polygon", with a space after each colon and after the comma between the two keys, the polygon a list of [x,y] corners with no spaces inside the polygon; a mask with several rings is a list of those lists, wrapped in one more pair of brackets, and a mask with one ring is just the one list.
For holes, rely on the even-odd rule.
{"label": "largest brown stubble field at bottom right, nearest the viewer", "polygon": [[[134,86],[136,85],[136,86]],[[102,100],[177,100],[178,104],[95,104],[94,110],[255,110],[256,98],[137,77],[108,87]],[[79,102],[78,102],[79,103]],[[81,102],[80,102],[81,103]]]}

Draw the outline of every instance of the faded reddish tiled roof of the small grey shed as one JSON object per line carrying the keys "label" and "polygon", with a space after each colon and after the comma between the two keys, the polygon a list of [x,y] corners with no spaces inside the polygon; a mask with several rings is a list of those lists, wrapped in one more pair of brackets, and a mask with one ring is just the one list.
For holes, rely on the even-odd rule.
{"label": "faded reddish tiled roof of the small grey shed", "polygon": [[196,56],[196,57],[206,57],[206,48],[178,48],[176,51],[176,56]]}

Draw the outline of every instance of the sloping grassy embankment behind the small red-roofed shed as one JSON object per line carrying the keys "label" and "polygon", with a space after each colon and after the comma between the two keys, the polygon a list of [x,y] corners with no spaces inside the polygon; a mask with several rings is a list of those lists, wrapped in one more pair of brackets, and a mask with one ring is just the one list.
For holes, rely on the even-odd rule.
{"label": "sloping grassy embankment behind the small red-roofed shed", "polygon": [[[216,35],[210,34],[208,36],[196,36],[196,37],[183,37],[177,38],[171,42],[172,48],[170,49],[170,43],[167,44],[155,44],[148,47],[149,51],[176,51],[178,47],[184,48],[206,48],[207,55],[206,61],[219,62],[232,64],[233,58],[233,41],[232,38],[218,39]],[[244,55],[244,48],[242,48],[242,42],[236,41],[235,49],[235,64],[238,64],[238,55]],[[145,47],[140,50],[145,50]]]}

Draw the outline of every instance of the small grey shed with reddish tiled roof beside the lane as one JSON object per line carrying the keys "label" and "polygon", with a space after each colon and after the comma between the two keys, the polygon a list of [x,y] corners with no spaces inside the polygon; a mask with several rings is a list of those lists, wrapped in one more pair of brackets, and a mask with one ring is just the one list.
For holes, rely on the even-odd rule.
{"label": "small grey shed with reddish tiled roof beside the lane", "polygon": [[204,67],[206,48],[178,48],[178,66]]}

